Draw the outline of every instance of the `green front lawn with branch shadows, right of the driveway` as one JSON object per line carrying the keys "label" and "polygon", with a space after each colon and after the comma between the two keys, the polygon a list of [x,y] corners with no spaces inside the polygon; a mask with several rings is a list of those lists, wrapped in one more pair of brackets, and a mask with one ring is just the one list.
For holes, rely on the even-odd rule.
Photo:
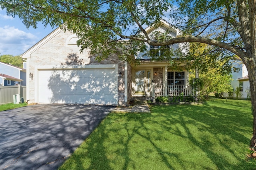
{"label": "green front lawn with branch shadows, right of the driveway", "polygon": [[252,170],[250,101],[110,113],[60,170]]}

